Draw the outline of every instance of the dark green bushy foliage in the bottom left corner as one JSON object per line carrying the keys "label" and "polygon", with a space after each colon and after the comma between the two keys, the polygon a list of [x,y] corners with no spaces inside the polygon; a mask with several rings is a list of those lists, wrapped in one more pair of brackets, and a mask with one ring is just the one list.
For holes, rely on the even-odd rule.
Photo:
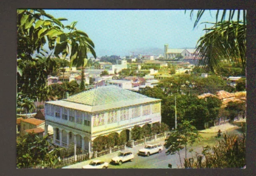
{"label": "dark green bushy foliage in the bottom left corner", "polygon": [[37,164],[46,164],[54,168],[58,163],[58,151],[61,149],[47,141],[48,135],[38,137],[34,133],[24,135],[17,140],[16,166],[17,168],[30,168]]}

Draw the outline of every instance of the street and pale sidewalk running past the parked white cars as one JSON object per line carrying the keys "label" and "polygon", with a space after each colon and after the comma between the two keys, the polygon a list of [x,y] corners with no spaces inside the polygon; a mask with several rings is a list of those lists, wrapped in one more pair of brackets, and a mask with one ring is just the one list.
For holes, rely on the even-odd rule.
{"label": "street and pale sidewalk running past the parked white cars", "polygon": [[[215,127],[216,129],[222,129],[223,131],[226,131],[228,134],[234,134],[234,135],[241,135],[241,133],[238,131],[239,127],[234,127],[233,125],[220,125],[218,127]],[[215,129],[213,128],[213,129]],[[226,130],[225,130],[226,129]],[[216,131],[216,130],[215,130]],[[187,145],[187,158],[190,158],[192,155],[195,156],[195,153],[197,152],[198,154],[201,154],[203,150],[203,146],[206,145],[214,145],[217,144],[218,140],[223,139],[221,138],[215,138],[216,133],[201,133],[203,139],[199,143],[195,143],[194,145],[190,146]],[[156,143],[161,143],[164,145],[164,139],[159,140],[159,141],[153,141],[148,144],[156,144]],[[109,164],[108,168],[168,168],[168,164],[172,164],[172,168],[181,168],[180,167],[180,158],[182,164],[184,163],[184,158],[185,158],[185,148],[180,151],[180,158],[178,154],[173,154],[173,155],[166,155],[167,149],[164,148],[162,153],[156,153],[152,154],[150,156],[138,156],[138,150],[144,148],[144,144],[140,146],[136,146],[134,148],[129,148],[127,147],[125,151],[130,151],[134,154],[134,160],[132,162],[127,161],[124,162],[122,165],[115,165],[115,164]],[[190,153],[190,149],[193,149],[193,152]],[[87,160],[84,162],[79,162],[70,166],[66,166],[63,168],[82,168],[82,166],[89,164],[92,160],[99,159],[104,162],[110,163],[110,160],[114,157],[117,156],[119,152],[124,152],[124,151],[116,151],[110,154],[106,154],[91,160]],[[184,168],[184,166],[183,166]]]}

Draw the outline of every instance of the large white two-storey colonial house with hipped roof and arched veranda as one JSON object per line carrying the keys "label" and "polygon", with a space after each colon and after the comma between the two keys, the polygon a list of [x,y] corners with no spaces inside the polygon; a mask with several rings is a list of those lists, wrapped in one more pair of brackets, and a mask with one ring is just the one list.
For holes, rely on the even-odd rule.
{"label": "large white two-storey colonial house with hipped roof and arched veranda", "polygon": [[48,125],[54,129],[56,145],[74,143],[82,150],[92,151],[96,137],[125,130],[130,139],[134,125],[161,122],[161,100],[119,88],[102,86],[67,99],[45,103]]}

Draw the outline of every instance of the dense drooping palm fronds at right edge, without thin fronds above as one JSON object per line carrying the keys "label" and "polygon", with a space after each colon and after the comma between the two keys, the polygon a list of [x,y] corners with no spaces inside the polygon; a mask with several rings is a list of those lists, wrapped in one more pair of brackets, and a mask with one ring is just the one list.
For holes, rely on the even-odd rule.
{"label": "dense drooping palm fronds at right edge, without thin fronds above", "polygon": [[208,32],[198,40],[196,49],[202,65],[217,72],[221,61],[239,63],[245,74],[246,30],[243,24],[224,21],[204,30]]}

